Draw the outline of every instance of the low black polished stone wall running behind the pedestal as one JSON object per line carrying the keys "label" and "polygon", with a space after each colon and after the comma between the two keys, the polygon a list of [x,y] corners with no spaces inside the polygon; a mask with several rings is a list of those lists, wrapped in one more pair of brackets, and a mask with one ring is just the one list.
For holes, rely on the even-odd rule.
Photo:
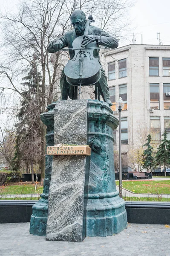
{"label": "low black polished stone wall running behind the pedestal", "polygon": [[[0,200],[0,223],[29,222],[37,200]],[[126,201],[127,221],[170,224],[170,202]]]}

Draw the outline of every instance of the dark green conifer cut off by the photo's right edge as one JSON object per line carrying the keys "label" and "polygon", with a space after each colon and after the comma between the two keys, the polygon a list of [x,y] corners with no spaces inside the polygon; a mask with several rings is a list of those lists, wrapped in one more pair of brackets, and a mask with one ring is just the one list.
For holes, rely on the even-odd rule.
{"label": "dark green conifer cut off by the photo's right edge", "polygon": [[156,152],[156,164],[164,165],[165,176],[166,175],[166,166],[170,164],[170,140],[167,140],[167,131],[165,130],[162,134],[163,140],[158,146]]}

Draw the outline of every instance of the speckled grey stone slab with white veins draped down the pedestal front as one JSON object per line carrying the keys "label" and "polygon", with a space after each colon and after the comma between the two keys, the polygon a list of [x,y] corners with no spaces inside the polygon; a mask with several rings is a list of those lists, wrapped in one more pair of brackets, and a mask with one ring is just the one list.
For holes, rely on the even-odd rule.
{"label": "speckled grey stone slab with white veins draped down the pedestal front", "polygon": [[[87,144],[87,100],[60,101],[55,106],[57,144]],[[49,188],[46,240],[83,241],[86,156],[54,156]]]}

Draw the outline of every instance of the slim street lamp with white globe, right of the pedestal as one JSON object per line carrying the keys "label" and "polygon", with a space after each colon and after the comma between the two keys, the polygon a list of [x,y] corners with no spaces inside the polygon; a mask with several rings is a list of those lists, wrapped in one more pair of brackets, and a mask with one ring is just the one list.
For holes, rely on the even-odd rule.
{"label": "slim street lamp with white globe, right of the pedestal", "polygon": [[119,97],[116,102],[116,109],[119,111],[118,119],[119,119],[119,196],[122,198],[122,166],[121,166],[121,111],[124,108],[124,102]]}

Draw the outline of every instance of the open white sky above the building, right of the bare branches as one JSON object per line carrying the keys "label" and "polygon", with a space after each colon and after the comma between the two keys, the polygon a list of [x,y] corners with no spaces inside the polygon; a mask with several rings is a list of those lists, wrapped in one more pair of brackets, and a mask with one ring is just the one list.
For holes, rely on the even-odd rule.
{"label": "open white sky above the building, right of the bare branches", "polygon": [[143,44],[159,44],[158,32],[161,42],[170,45],[170,0],[137,0],[130,13],[136,44],[141,44],[141,34]]}

